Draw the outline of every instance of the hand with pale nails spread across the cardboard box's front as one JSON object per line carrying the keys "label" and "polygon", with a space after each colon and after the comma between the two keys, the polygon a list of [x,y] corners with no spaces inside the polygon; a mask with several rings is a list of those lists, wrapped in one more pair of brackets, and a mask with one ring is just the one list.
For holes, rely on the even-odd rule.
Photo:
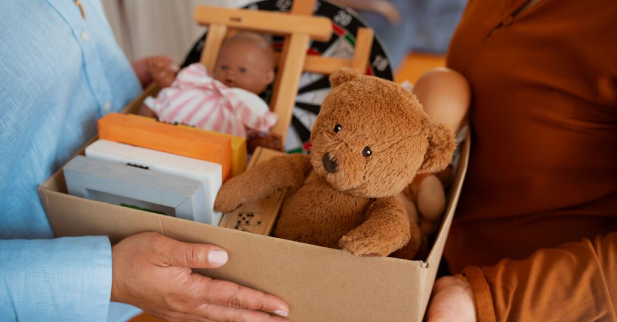
{"label": "hand with pale nails spread across the cardboard box's front", "polygon": [[112,247],[111,300],[168,321],[287,321],[269,314],[287,316],[289,307],[278,297],[191,271],[221,267],[227,259],[213,245],[159,233],[130,236]]}

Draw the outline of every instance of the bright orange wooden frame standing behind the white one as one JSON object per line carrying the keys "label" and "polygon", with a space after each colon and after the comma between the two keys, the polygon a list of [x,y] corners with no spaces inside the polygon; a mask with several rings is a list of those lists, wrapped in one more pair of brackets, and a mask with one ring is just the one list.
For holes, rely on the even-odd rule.
{"label": "bright orange wooden frame standing behind the white one", "polygon": [[223,166],[231,177],[231,139],[205,131],[162,123],[139,115],[110,113],[98,121],[99,139],[151,148]]}

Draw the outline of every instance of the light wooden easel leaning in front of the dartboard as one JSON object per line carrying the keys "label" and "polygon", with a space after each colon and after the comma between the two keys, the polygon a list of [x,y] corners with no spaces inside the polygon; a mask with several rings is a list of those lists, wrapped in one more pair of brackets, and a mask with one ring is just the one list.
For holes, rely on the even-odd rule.
{"label": "light wooden easel leaning in front of the dartboard", "polygon": [[237,30],[251,30],[285,37],[270,101],[270,110],[279,117],[270,131],[281,135],[283,142],[291,123],[302,72],[330,74],[347,66],[364,74],[373,45],[373,31],[360,28],[356,36],[354,57],[351,60],[307,56],[311,39],[328,41],[332,36],[332,24],[328,18],[312,17],[314,7],[315,0],[296,0],[290,12],[209,6],[199,6],[195,10],[196,22],[199,25],[209,26],[200,60],[208,70],[214,68],[223,41],[230,33]]}

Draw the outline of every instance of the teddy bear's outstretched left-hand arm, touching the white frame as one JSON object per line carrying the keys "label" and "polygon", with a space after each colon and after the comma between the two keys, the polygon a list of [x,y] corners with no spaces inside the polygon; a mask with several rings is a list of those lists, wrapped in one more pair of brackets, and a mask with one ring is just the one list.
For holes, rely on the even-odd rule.
{"label": "teddy bear's outstretched left-hand arm, touching the white frame", "polygon": [[312,168],[306,155],[275,156],[263,161],[223,183],[214,209],[231,212],[242,204],[266,198],[282,188],[298,188]]}

